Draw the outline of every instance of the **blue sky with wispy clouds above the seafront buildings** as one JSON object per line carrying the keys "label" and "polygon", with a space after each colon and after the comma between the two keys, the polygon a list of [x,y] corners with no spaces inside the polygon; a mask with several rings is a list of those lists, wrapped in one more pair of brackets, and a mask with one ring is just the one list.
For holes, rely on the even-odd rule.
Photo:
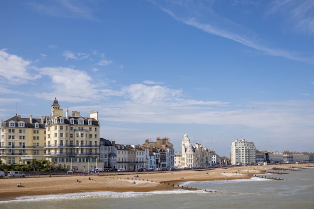
{"label": "blue sky with wispy clouds above the seafront buildings", "polygon": [[2,1],[0,118],[99,112],[100,137],[314,151],[314,2]]}

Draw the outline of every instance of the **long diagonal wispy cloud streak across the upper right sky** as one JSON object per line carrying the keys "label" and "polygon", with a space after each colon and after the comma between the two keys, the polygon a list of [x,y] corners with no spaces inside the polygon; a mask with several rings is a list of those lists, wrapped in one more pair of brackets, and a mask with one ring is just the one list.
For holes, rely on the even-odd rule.
{"label": "long diagonal wispy cloud streak across the upper right sky", "polygon": [[[230,39],[244,46],[263,52],[265,55],[282,57],[285,59],[296,60],[306,63],[314,63],[312,58],[301,57],[296,53],[268,47],[266,44],[263,44],[261,40],[257,40],[255,38],[256,35],[249,35],[252,34],[252,32],[249,29],[246,29],[241,25],[233,23],[232,21],[228,20],[225,17],[217,16],[213,12],[211,7],[211,4],[214,3],[214,1],[212,1],[212,3],[208,3],[206,9],[204,8],[205,6],[203,4],[196,6],[198,5],[198,3],[194,1],[185,2],[184,4],[177,4],[177,2],[172,1],[170,2],[166,1],[165,4],[160,4],[159,1],[150,2],[161,8],[163,12],[169,14],[175,20],[182,22],[186,25],[195,27],[197,29],[200,29],[208,34]],[[189,7],[189,4],[191,7]],[[174,7],[174,5],[176,7]],[[195,9],[196,7],[199,8]],[[196,13],[195,11],[199,11],[199,14]],[[207,19],[204,19],[203,16],[206,16]],[[202,20],[201,17],[203,17]]]}

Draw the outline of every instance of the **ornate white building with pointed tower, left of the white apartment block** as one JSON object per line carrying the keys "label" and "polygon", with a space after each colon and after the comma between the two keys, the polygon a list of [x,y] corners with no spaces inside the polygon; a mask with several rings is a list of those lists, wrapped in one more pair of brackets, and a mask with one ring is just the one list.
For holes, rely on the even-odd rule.
{"label": "ornate white building with pointed tower, left of the white apartment block", "polygon": [[[178,168],[197,168],[208,167],[212,165],[213,153],[209,148],[204,148],[200,143],[196,143],[195,146],[191,144],[188,134],[185,134],[182,139],[182,150],[180,164]],[[214,158],[217,161],[219,156]]]}

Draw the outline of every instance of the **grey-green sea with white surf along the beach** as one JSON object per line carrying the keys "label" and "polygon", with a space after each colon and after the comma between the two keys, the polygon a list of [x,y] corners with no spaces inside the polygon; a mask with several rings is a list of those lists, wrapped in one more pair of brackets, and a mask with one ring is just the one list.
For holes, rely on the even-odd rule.
{"label": "grey-green sea with white surf along the beach", "polygon": [[[264,174],[266,178],[189,181],[174,189],[151,192],[86,192],[21,196],[0,201],[0,208],[314,208],[314,168]],[[269,176],[269,178],[268,178]],[[284,180],[272,180],[283,178]],[[4,189],[4,188],[2,188]]]}

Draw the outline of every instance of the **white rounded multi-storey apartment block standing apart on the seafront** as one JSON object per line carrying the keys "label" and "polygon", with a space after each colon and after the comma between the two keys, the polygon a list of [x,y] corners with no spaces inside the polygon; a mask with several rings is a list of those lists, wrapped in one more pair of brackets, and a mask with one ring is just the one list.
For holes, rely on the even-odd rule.
{"label": "white rounded multi-storey apartment block standing apart on the seafront", "polygon": [[256,148],[253,142],[236,139],[231,143],[231,164],[255,164]]}

